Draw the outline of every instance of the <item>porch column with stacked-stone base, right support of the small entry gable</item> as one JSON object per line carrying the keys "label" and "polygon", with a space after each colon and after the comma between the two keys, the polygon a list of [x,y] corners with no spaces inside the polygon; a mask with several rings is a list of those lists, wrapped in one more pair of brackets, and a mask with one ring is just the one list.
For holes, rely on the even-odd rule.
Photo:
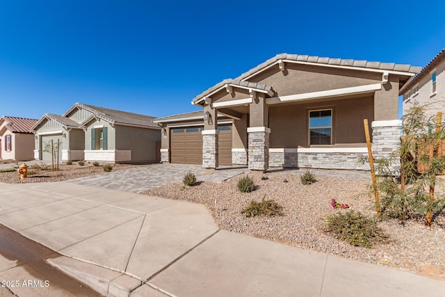
{"label": "porch column with stacked-stone base, right support of the small entry gable", "polygon": [[268,105],[264,94],[251,92],[250,127],[248,127],[248,168],[266,172],[269,168]]}

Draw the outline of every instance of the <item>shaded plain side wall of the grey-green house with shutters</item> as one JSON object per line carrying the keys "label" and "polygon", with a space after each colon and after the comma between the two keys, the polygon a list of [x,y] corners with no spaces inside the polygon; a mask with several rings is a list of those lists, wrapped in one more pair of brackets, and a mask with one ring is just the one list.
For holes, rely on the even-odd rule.
{"label": "shaded plain side wall of the grey-green house with shutters", "polygon": [[[108,134],[109,134],[108,129]],[[156,141],[161,131],[138,127],[115,126],[116,150],[131,150],[131,161],[156,161]],[[108,147],[108,150],[110,148]]]}

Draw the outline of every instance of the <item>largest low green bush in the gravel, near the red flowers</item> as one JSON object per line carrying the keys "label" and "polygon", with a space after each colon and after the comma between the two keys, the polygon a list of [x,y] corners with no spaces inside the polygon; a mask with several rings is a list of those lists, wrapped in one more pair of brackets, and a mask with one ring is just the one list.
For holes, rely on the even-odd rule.
{"label": "largest low green bush in the gravel, near the red flowers", "polygon": [[346,241],[353,246],[372,248],[373,243],[385,241],[388,236],[377,227],[377,220],[366,218],[359,211],[328,216],[325,232],[330,232],[336,238]]}

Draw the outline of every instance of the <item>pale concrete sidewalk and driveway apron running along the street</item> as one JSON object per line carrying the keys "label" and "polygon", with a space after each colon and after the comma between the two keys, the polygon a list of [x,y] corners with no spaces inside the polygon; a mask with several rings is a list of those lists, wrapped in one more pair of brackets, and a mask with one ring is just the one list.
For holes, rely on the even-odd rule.
{"label": "pale concrete sidewalk and driveway apron running along the street", "polygon": [[110,296],[445,292],[421,275],[218,230],[200,204],[106,188],[0,184],[0,223],[56,250],[51,264]]}

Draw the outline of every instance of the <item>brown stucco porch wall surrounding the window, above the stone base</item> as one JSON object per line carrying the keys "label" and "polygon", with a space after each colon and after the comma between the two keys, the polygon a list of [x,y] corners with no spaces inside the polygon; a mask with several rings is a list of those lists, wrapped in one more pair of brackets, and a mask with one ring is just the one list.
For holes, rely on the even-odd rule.
{"label": "brown stucco porch wall surrounding the window, above the stone base", "polygon": [[332,109],[332,143],[337,147],[363,146],[363,119],[373,118],[373,96],[269,107],[270,147],[307,147],[309,110]]}

